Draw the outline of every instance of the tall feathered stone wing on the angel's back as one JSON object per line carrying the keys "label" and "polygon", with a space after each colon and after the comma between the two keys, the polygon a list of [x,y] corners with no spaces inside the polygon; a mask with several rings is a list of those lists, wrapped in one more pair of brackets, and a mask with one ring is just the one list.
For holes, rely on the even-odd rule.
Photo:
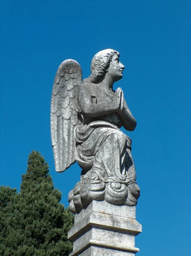
{"label": "tall feathered stone wing on the angel's back", "polygon": [[57,172],[75,163],[73,131],[80,124],[76,110],[78,86],[82,81],[77,61],[66,60],[58,67],[51,99],[51,137]]}

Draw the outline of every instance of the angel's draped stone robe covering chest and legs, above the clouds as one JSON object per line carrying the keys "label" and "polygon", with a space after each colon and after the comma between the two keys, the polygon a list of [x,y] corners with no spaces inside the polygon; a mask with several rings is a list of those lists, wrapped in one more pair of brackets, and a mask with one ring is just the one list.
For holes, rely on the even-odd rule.
{"label": "angel's draped stone robe covering chest and legs, above the clouds", "polygon": [[[113,100],[113,94],[90,85],[93,104],[104,104]],[[85,100],[85,99],[84,99]],[[81,112],[84,124],[75,127],[76,160],[84,173],[94,172],[104,182],[128,183],[136,180],[136,172],[130,153],[131,140],[119,127],[122,120],[118,113],[90,118]],[[85,176],[87,177],[87,175]]]}

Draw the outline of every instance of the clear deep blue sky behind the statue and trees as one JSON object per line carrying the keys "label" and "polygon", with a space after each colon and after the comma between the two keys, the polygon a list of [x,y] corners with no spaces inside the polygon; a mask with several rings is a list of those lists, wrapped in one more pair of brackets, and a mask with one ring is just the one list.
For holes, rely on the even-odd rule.
{"label": "clear deep blue sky behind the statue and trees", "polygon": [[2,0],[0,185],[19,191],[28,155],[38,150],[68,206],[80,168],[55,172],[52,84],[65,59],[78,61],[86,78],[107,48],[120,52],[124,77],[114,87],[137,120],[127,133],[141,187],[137,255],[190,255],[190,0]]}

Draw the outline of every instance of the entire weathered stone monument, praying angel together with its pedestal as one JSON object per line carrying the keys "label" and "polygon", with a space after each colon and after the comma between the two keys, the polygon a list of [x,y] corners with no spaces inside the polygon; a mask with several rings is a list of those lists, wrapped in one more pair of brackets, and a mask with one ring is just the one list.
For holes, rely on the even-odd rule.
{"label": "entire weathered stone monument, praying angel together with its pedestal", "polygon": [[119,52],[98,52],[91,74],[82,81],[77,61],[58,67],[52,90],[51,136],[57,172],[75,161],[81,180],[69,193],[69,209],[75,214],[68,238],[70,256],[133,256],[135,236],[142,226],[135,219],[140,195],[127,131],[136,128],[121,88],[124,65]]}

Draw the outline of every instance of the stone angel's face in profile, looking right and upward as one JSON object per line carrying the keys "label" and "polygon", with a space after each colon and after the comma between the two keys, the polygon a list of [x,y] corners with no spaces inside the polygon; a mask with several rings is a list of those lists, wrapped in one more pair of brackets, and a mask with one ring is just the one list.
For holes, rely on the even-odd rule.
{"label": "stone angel's face in profile, looking right and upward", "polygon": [[119,79],[122,79],[123,70],[124,70],[124,65],[119,61],[118,56],[114,54],[110,61],[110,66],[107,71],[107,75],[109,75],[113,79],[113,81],[116,82]]}

